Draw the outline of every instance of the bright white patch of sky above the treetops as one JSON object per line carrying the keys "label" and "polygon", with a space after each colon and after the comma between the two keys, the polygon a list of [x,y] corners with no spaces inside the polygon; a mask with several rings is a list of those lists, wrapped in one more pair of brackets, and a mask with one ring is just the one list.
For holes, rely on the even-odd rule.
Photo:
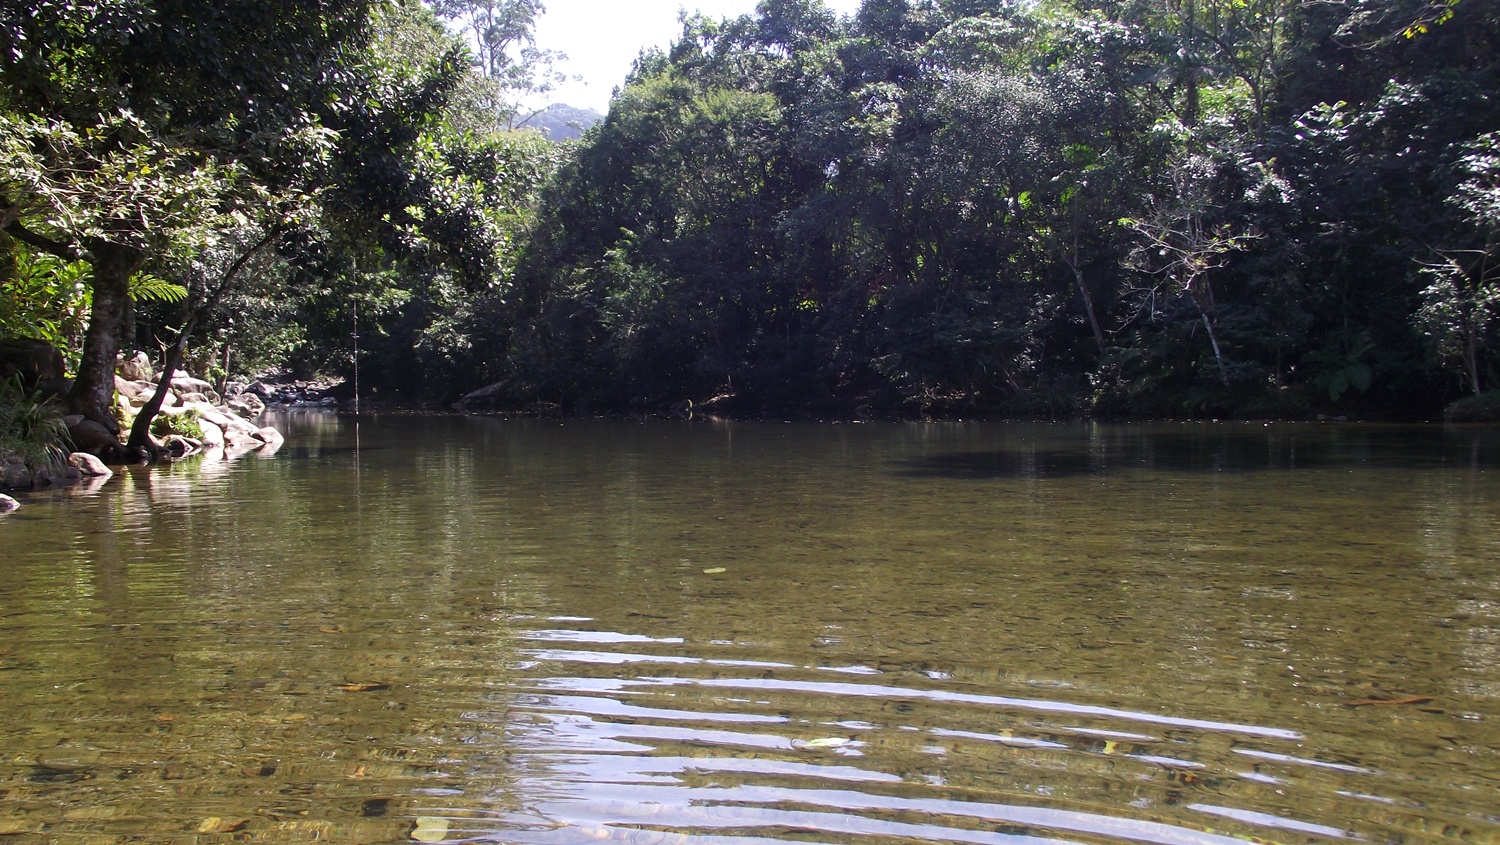
{"label": "bright white patch of sky above the treetops", "polygon": [[[840,15],[852,15],[860,0],[825,0]],[[626,80],[642,48],[666,48],[682,33],[676,15],[698,11],[710,18],[738,18],[754,11],[756,0],[546,0],[537,20],[537,47],[566,53],[561,68],[582,83],[567,83],[548,98],[598,113],[609,110],[609,95]]]}

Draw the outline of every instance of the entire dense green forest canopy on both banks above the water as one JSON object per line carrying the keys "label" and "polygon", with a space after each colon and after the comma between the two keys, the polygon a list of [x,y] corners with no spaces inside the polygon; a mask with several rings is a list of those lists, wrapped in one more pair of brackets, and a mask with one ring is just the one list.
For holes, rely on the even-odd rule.
{"label": "entire dense green forest canopy on both banks above the water", "polygon": [[80,407],[100,318],[183,314],[236,372],[358,332],[406,402],[1430,419],[1500,378],[1484,0],[764,0],[564,146],[507,132],[536,0],[32,6],[0,327],[78,345],[92,296]]}

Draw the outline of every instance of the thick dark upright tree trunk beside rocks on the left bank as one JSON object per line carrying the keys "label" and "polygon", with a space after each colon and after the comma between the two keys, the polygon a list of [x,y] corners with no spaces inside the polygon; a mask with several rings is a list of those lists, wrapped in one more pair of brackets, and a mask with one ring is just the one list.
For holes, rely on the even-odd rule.
{"label": "thick dark upright tree trunk beside rocks on the left bank", "polygon": [[114,420],[114,368],[120,353],[120,330],[130,308],[130,276],[141,266],[141,254],[128,246],[100,243],[90,251],[93,264],[93,306],[88,333],[78,360],[78,378],[68,393],[75,414],[120,431]]}

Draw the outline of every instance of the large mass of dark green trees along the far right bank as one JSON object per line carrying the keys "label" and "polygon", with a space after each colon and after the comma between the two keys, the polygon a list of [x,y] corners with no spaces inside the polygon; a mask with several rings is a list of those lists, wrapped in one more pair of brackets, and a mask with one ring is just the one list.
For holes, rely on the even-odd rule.
{"label": "large mass of dark green trees along the far right bank", "polygon": [[[732,386],[748,408],[1434,413],[1444,353],[1413,321],[1488,348],[1474,138],[1500,119],[1497,39],[1492,9],[1446,0],[688,18],[544,197],[510,383],[657,407]],[[1462,284],[1412,272],[1431,245],[1467,257]]]}

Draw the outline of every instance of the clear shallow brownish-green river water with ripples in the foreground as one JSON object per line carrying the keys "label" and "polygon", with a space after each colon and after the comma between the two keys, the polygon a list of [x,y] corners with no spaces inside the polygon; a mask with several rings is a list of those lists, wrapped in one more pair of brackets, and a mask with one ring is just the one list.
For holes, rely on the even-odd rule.
{"label": "clear shallow brownish-green river water with ripples in the foreground", "polygon": [[284,420],[0,522],[0,843],[1500,840],[1500,435]]}

